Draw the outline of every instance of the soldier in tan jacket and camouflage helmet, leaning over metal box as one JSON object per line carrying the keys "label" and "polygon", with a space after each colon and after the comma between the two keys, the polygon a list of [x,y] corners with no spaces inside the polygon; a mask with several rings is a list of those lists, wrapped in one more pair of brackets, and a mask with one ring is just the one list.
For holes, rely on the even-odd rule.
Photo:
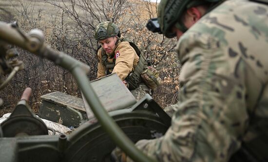
{"label": "soldier in tan jacket and camouflage helmet, leaning over metal box", "polygon": [[[97,78],[110,73],[116,73],[117,76],[128,87],[128,76],[134,72],[139,62],[139,56],[128,41],[122,41],[122,36],[115,23],[110,21],[101,22],[96,26],[95,38],[101,44],[97,52],[98,66]],[[140,100],[151,90],[143,83],[138,87],[130,89],[136,100]]]}

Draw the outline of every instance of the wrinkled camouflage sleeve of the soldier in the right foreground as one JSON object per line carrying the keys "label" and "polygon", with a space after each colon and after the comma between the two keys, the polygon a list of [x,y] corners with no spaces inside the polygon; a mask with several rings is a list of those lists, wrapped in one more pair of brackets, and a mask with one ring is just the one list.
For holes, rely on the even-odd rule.
{"label": "wrinkled camouflage sleeve of the soldier in the right foreground", "polygon": [[[180,39],[172,126],[159,139],[136,143],[145,154],[158,162],[227,162],[240,147],[248,123],[245,81],[234,76],[227,46],[208,34],[188,32]],[[243,76],[243,66],[236,74]]]}

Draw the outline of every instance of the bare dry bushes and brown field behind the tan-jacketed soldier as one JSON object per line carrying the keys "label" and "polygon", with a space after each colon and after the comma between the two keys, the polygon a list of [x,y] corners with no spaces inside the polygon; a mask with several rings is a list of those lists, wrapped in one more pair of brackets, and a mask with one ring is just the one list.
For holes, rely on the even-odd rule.
{"label": "bare dry bushes and brown field behind the tan-jacketed soldier", "polygon": [[[142,53],[151,60],[160,72],[162,85],[154,92],[153,98],[166,107],[177,102],[178,73],[175,40],[153,34],[147,30],[149,18],[156,17],[156,3],[150,0],[19,0],[14,20],[21,30],[41,29],[46,42],[52,48],[77,58],[91,67],[90,80],[96,78],[97,41],[94,39],[96,24],[113,21],[122,35],[133,41]],[[14,11],[15,12],[15,11]],[[31,105],[38,111],[39,97],[52,91],[63,91],[80,96],[72,76],[53,63],[20,51],[19,59],[25,69],[0,92],[5,107],[14,107],[25,87],[33,89]],[[14,94],[15,93],[15,94]]]}

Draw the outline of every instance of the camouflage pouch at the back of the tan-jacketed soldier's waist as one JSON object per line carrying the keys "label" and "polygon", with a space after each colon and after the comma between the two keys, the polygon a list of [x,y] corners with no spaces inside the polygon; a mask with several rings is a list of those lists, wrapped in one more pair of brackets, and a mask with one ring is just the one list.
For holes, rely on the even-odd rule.
{"label": "camouflage pouch at the back of the tan-jacketed soldier's waist", "polygon": [[152,66],[147,66],[146,69],[141,73],[141,78],[143,82],[152,90],[161,84],[161,78],[159,77],[159,72]]}

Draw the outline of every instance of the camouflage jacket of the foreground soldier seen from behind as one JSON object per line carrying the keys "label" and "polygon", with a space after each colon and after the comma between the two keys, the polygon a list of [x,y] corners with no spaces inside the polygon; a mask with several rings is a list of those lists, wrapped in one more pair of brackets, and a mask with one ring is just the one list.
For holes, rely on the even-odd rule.
{"label": "camouflage jacket of the foreground soldier seen from behind", "polygon": [[225,1],[179,39],[178,55],[172,126],[136,146],[158,162],[228,162],[268,117],[268,6]]}

